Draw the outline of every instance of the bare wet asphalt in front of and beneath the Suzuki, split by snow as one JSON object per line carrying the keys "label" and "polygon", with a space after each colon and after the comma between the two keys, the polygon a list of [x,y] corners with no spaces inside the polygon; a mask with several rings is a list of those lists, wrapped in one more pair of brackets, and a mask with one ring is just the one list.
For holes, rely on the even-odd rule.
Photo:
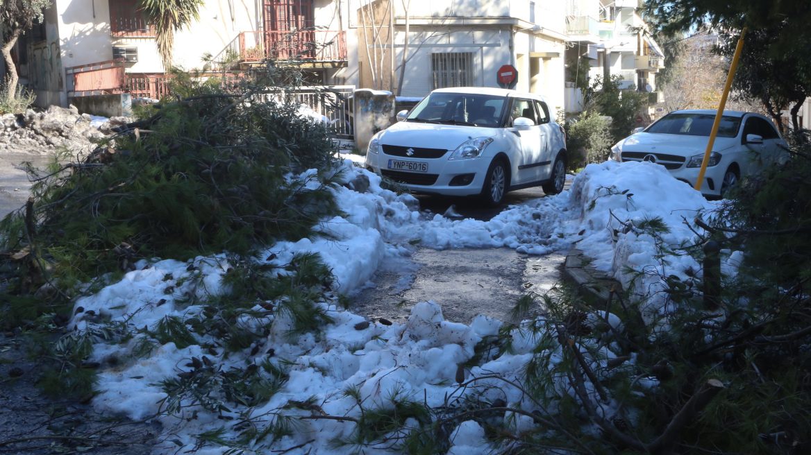
{"label": "bare wet asphalt in front of and beneath the Suzuki, split by snow", "polygon": [[[569,188],[566,182],[566,188]],[[511,205],[543,198],[543,189],[507,193],[504,203],[488,208],[477,198],[417,195],[421,210],[444,214],[453,205],[459,215],[487,221]],[[446,320],[470,324],[477,314],[510,321],[509,311],[527,293],[543,294],[561,279],[565,256],[552,253],[528,256],[514,249],[414,248],[400,264],[386,264],[373,280],[375,286],[351,296],[354,313],[405,322],[410,308],[434,300]],[[536,308],[543,312],[543,308]],[[517,321],[516,321],[517,322]]]}

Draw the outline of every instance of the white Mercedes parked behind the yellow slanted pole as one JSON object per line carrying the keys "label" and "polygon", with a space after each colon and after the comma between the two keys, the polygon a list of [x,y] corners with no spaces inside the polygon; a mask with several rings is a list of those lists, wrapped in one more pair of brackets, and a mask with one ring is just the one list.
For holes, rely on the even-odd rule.
{"label": "white Mercedes parked behind the yellow slanted pole", "polygon": [[[663,165],[680,181],[695,185],[710,141],[715,111],[674,111],[611,147],[615,161],[650,161]],[[768,117],[724,111],[707,165],[702,193],[719,197],[741,176],[788,159],[788,144]]]}

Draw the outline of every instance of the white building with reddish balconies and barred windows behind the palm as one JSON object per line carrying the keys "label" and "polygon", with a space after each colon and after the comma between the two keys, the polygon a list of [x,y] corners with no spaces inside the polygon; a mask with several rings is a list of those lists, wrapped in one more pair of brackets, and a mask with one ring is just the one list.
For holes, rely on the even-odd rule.
{"label": "white building with reddish balconies and barred windows behind the palm", "polygon": [[[15,46],[20,82],[35,91],[36,105],[67,106],[71,98],[117,92],[165,94],[154,29],[137,3],[53,1],[45,21]],[[345,0],[207,0],[200,21],[176,33],[174,64],[204,68],[204,53],[222,57],[227,50],[246,65],[298,56],[308,82],[336,83],[346,79],[341,72],[353,45],[342,20],[346,5]],[[309,50],[307,43],[320,45]]]}

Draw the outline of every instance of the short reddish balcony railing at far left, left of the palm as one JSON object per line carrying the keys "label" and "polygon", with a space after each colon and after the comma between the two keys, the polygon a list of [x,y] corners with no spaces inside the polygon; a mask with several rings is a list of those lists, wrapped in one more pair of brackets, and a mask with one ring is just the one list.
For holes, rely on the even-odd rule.
{"label": "short reddish balcony railing at far left, left of the palm", "polygon": [[120,93],[124,88],[124,59],[88,63],[65,69],[67,96]]}

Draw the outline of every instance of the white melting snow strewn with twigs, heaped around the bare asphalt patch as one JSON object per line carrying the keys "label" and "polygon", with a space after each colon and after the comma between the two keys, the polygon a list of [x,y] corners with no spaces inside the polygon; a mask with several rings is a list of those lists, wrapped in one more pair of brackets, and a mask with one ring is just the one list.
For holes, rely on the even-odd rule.
{"label": "white melting snow strewn with twigs, heaped around the bare asphalt patch", "polygon": [[[281,242],[266,252],[268,256],[275,253],[269,262],[276,266],[289,262],[294,253],[320,253],[333,270],[340,292],[363,287],[381,265],[401,260],[408,252],[405,243],[416,239],[438,249],[508,246],[519,252],[536,254],[565,250],[577,244],[579,249],[595,258],[594,265],[599,269],[610,270],[628,283],[630,278],[624,274],[625,266],[646,270],[646,267],[661,265],[653,256],[654,237],[629,231],[620,221],[638,221],[658,215],[671,228],[661,238],[674,247],[693,237],[693,233],[681,223],[682,217],[691,220],[697,210],[713,206],[689,185],[673,179],[661,166],[609,162],[586,167],[574,178],[571,189],[564,193],[541,198],[526,206],[513,206],[487,222],[449,220],[441,215],[424,219],[415,198],[397,196],[381,189],[379,176],[353,167],[349,160],[344,162],[344,171],[347,183],[358,183],[358,179],[363,181],[365,176],[369,190],[358,193],[346,187],[335,189],[341,210],[346,215],[324,220],[320,226],[322,232],[332,238]],[[315,172],[310,175],[315,176]],[[732,253],[732,257],[740,262],[740,254]],[[725,267],[727,270],[734,268],[737,262],[727,261]],[[199,271],[188,271],[189,264],[173,260],[140,262],[138,270],[126,274],[121,282],[77,300],[75,306],[84,307],[84,313],[79,313],[72,324],[79,330],[96,325],[93,315],[87,316],[88,310],[93,310],[97,317],[109,317],[114,323],[133,327],[152,327],[166,316],[185,319],[200,315],[203,307],[186,306],[181,302],[182,297],[188,293],[202,299],[217,295],[228,264],[224,256],[217,256],[198,257],[195,265]],[[695,266],[692,258],[676,257],[663,272],[680,275]],[[194,287],[188,280],[195,273],[204,275],[204,286]],[[654,285],[654,275],[649,278],[648,284]],[[408,284],[408,279],[402,283],[403,286]],[[320,305],[328,309],[335,322],[325,326],[318,336],[304,334],[293,340],[285,338],[282,334],[290,326],[290,321],[277,316],[274,329],[267,334],[264,346],[255,355],[251,355],[250,348],[232,353],[227,358],[221,356],[221,351],[218,356],[212,355],[217,367],[223,369],[245,368],[254,362],[259,363],[269,352],[274,353],[273,361],[285,359],[294,364],[290,380],[269,402],[253,410],[253,415],[281,412],[309,416],[309,410],[280,409],[290,400],[303,402],[314,397],[326,415],[358,417],[360,410],[354,398],[342,393],[351,387],[359,389],[367,408],[390,406],[387,398],[395,390],[417,397],[420,402],[425,400],[429,406],[440,406],[446,399],[470,393],[470,390],[451,385],[455,384],[457,365],[470,359],[474,345],[484,336],[496,334],[501,325],[500,321],[481,315],[474,317],[470,325],[450,323],[444,321],[439,305],[422,302],[414,306],[405,324],[372,322],[367,329],[356,330],[355,325],[364,321],[362,316],[338,310],[332,299],[324,300]],[[662,305],[654,305],[654,310],[662,308]],[[611,315],[611,321],[613,319]],[[513,354],[505,354],[482,367],[467,370],[466,378],[494,373],[509,379],[521,376],[521,368],[531,357],[534,340],[518,332],[513,336]],[[208,336],[195,337],[200,344],[211,341]],[[188,371],[184,365],[191,357],[207,354],[199,345],[178,349],[169,342],[147,359],[135,360],[130,353],[137,342],[136,337],[118,345],[96,345],[92,355],[94,360],[101,362],[110,355],[129,359],[101,371],[98,385],[101,393],[92,402],[97,409],[132,419],[153,415],[161,410],[161,400],[166,397],[157,383],[168,376],[176,376],[178,372]],[[611,356],[610,352],[606,354]],[[553,358],[559,357],[553,355]],[[517,406],[529,406],[527,409],[531,410],[531,403],[526,402],[517,389],[503,384],[488,389],[484,398],[501,398],[508,403],[517,403]],[[234,412],[223,411],[218,417],[199,406],[191,406],[191,403],[184,402],[183,405],[190,407],[178,415],[157,418],[164,425],[166,440],[157,448],[157,453],[194,449],[195,435],[219,427],[223,428],[225,438],[237,436],[238,411],[245,410],[244,407],[232,406]],[[195,419],[191,418],[193,415],[196,415]],[[266,422],[272,419],[271,415],[264,418]],[[530,420],[515,421],[517,425],[532,424]],[[300,425],[294,435],[274,443],[273,450],[284,451],[313,440],[288,453],[354,451],[353,447],[335,448],[330,442],[336,437],[350,436],[354,423],[328,419],[297,422]],[[482,435],[478,424],[460,422],[453,432],[455,445],[449,453],[485,453]],[[204,449],[199,453],[223,452],[225,449]],[[383,452],[383,449],[369,451],[374,452]]]}

